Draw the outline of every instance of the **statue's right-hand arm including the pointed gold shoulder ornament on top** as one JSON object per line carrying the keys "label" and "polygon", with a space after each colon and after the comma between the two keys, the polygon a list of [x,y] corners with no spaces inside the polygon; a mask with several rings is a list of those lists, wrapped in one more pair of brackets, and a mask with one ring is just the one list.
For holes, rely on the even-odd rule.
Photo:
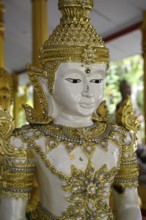
{"label": "statue's right-hand arm including the pointed gold shoulder ornament on top", "polygon": [[120,167],[112,189],[115,219],[142,220],[137,193],[139,168],[135,154],[136,134],[140,126],[134,115],[130,97],[127,97],[119,108],[116,121],[118,125],[126,128],[126,132],[121,145]]}

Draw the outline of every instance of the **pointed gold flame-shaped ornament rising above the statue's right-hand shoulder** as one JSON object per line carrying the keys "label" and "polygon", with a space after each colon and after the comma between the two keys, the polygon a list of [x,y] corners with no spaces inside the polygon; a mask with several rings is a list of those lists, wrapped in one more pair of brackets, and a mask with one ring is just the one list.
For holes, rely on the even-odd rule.
{"label": "pointed gold flame-shaped ornament rising above the statue's right-hand shoulder", "polygon": [[127,96],[122,106],[117,111],[116,121],[117,124],[124,126],[129,131],[134,131],[134,133],[137,133],[140,129],[139,121],[133,111],[130,96]]}

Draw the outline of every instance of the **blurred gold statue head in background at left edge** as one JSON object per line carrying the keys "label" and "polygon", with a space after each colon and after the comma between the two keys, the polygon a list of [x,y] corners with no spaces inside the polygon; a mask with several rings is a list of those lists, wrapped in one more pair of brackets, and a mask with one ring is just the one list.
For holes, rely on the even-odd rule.
{"label": "blurred gold statue head in background at left edge", "polygon": [[12,102],[13,102],[12,78],[4,68],[0,68],[0,105],[5,110],[9,111]]}

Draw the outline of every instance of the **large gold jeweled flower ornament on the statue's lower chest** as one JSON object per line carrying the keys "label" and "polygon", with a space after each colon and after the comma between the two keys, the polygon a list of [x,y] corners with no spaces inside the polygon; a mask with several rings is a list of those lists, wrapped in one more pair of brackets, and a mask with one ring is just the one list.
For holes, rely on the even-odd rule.
{"label": "large gold jeweled flower ornament on the statue's lower chest", "polygon": [[107,216],[108,219],[113,219],[106,200],[109,198],[108,187],[113,182],[115,173],[116,168],[108,171],[106,165],[96,171],[90,161],[85,172],[72,166],[72,181],[63,185],[63,189],[71,193],[67,198],[71,203],[67,210],[70,219],[98,220]]}

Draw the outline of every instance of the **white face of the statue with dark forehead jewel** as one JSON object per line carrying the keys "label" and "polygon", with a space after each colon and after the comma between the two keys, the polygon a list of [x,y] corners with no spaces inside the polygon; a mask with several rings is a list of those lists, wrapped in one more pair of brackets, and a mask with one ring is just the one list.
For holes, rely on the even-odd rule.
{"label": "white face of the statue with dark forehead jewel", "polygon": [[52,95],[58,114],[91,116],[103,98],[105,70],[105,64],[62,63]]}

